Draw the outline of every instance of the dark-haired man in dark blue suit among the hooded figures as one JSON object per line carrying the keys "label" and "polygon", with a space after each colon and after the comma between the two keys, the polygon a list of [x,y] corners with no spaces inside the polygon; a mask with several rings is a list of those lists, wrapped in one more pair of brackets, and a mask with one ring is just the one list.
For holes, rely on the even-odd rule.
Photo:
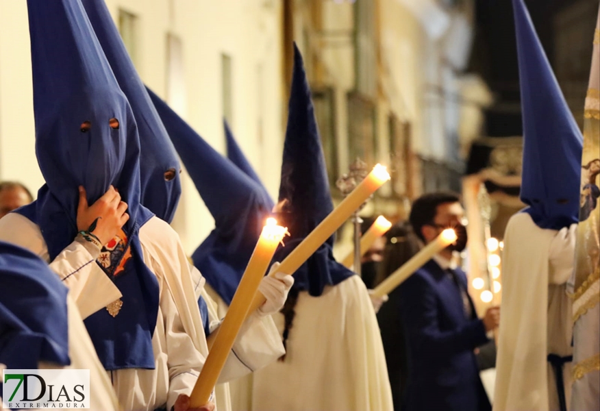
{"label": "dark-haired man in dark blue suit among the hooded figures", "polygon": [[499,324],[499,308],[477,319],[466,274],[451,263],[466,246],[464,210],[457,195],[432,193],[414,201],[410,223],[425,244],[442,230],[458,240],[438,253],[399,287],[399,310],[409,353],[409,382],[403,410],[490,410],[473,352]]}

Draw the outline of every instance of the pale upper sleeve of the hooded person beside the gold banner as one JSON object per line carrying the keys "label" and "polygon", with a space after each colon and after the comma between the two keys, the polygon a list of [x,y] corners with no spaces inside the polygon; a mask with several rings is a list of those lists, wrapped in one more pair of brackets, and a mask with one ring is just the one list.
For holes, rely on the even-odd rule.
{"label": "pale upper sleeve of the hooded person beside the gold banner", "polygon": [[575,268],[575,241],[577,240],[577,224],[564,227],[550,242],[549,249],[549,282],[564,284]]}

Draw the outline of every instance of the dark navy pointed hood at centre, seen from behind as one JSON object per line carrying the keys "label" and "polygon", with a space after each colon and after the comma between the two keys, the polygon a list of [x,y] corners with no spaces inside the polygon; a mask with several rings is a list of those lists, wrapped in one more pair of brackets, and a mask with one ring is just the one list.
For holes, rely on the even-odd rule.
{"label": "dark navy pointed hood at centre, seen from behind", "polygon": [[[334,209],[310,87],[296,45],[279,186],[279,201],[284,200],[286,204],[277,219],[288,227],[291,236],[286,246],[275,253],[275,261],[284,260]],[[325,286],[338,284],[353,275],[334,260],[333,245],[332,236],[294,273],[295,288],[308,290],[317,297]]]}

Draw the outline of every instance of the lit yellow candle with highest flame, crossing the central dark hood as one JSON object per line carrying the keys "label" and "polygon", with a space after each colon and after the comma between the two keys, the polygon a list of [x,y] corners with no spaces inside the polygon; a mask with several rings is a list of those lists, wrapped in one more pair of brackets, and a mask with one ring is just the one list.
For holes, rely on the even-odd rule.
{"label": "lit yellow candle with highest flame, crossing the central dark hood", "polygon": [[[373,167],[371,173],[368,173],[364,180],[282,261],[277,271],[290,275],[295,273],[314,251],[321,247],[327,238],[331,237],[336,229],[340,228],[344,221],[349,219],[353,212],[358,210],[362,203],[389,179],[390,175],[385,166],[377,164]],[[257,292],[249,312],[254,312],[264,301],[264,296]]]}

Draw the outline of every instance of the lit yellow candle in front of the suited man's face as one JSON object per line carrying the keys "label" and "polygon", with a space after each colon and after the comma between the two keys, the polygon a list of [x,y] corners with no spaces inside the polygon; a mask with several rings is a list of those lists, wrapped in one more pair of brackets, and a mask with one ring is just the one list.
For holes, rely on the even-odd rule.
{"label": "lit yellow candle in front of the suited man's face", "polygon": [[403,266],[397,269],[388,278],[384,279],[379,286],[375,287],[373,295],[375,295],[375,297],[383,297],[392,292],[397,286],[402,284],[405,279],[410,277],[412,273],[420,269],[427,261],[431,260],[433,256],[455,242],[456,238],[456,233],[453,229],[449,228],[442,231],[442,234],[440,234],[438,238],[429,242],[429,244],[416,253],[413,258],[405,262]]}

